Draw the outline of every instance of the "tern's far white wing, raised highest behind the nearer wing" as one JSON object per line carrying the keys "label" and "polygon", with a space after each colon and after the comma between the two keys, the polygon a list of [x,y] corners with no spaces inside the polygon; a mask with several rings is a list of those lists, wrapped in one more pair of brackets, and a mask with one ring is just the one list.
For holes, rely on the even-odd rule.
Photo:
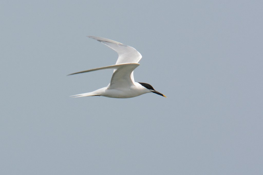
{"label": "tern's far white wing, raised highest behind the nearer wing", "polygon": [[88,37],[92,39],[96,39],[99,42],[107,45],[109,48],[115,50],[119,55],[116,64],[138,63],[142,57],[141,54],[136,49],[128,45],[106,38],[93,37],[93,36],[88,36]]}

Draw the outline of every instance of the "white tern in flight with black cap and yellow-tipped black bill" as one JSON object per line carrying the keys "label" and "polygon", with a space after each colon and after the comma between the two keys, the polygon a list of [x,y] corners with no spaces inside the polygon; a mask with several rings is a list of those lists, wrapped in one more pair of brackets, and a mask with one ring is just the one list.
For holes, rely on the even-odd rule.
{"label": "white tern in flight with black cap and yellow-tipped black bill", "polygon": [[141,54],[131,46],[119,43],[106,38],[87,36],[95,39],[118,53],[119,57],[115,65],[104,66],[95,69],[84,70],[69,75],[80,74],[95,70],[114,69],[113,75],[108,86],[98,90],[83,94],[72,95],[71,97],[86,97],[86,96],[104,96],[110,98],[131,98],[146,93],[155,93],[166,97],[156,91],[153,86],[148,83],[135,82],[133,71],[140,64]]}

